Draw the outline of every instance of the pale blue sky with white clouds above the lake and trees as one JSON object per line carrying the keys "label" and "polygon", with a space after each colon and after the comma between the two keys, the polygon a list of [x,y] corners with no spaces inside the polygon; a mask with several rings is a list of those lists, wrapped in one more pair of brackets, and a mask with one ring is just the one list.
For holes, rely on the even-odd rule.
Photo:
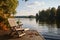
{"label": "pale blue sky with white clouds above the lake and trees", "polygon": [[27,2],[22,0],[18,1],[19,5],[16,8],[16,16],[36,15],[39,10],[46,10],[51,7],[57,8],[60,5],[60,0],[29,0]]}

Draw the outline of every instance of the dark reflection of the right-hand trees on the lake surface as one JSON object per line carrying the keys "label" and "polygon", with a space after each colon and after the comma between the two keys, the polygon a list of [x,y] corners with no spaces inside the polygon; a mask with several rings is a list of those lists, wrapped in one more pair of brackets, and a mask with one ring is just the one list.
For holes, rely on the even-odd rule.
{"label": "dark reflection of the right-hand trees on the lake surface", "polygon": [[57,28],[60,28],[60,21],[58,21],[58,20],[54,20],[53,22],[51,22],[51,21],[41,21],[41,20],[37,20],[36,19],[36,23],[38,23],[38,24],[48,24],[47,26],[49,27],[49,25],[51,25],[51,27],[53,27],[54,26],[54,24],[56,24],[56,26],[57,26]]}

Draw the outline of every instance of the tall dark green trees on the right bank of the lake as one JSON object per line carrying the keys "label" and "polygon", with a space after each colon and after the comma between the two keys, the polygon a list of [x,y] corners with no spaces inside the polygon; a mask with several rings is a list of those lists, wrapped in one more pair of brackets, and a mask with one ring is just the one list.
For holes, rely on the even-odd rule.
{"label": "tall dark green trees on the right bank of the lake", "polygon": [[60,22],[60,6],[58,8],[49,8],[47,10],[39,11],[36,14],[36,20],[53,23],[54,21]]}

